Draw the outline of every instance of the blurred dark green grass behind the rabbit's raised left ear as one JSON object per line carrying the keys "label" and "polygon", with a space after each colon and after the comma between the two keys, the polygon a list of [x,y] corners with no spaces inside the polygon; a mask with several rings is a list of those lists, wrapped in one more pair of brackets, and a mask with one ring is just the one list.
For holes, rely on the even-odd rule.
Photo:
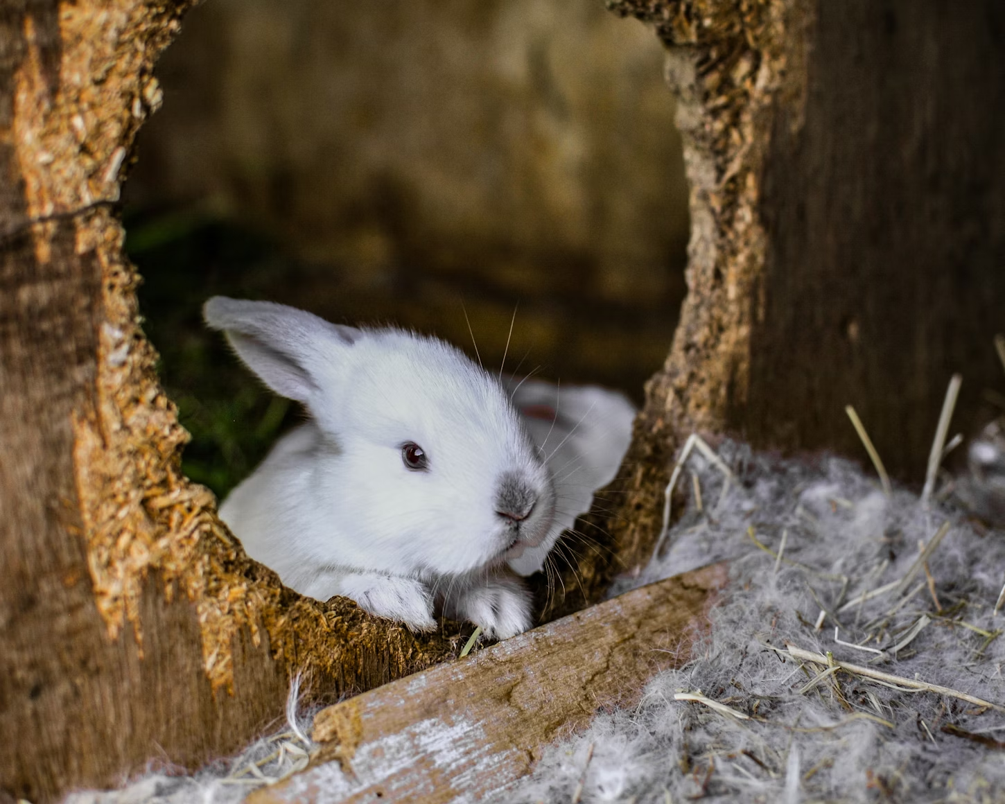
{"label": "blurred dark green grass behind the rabbit's raised left ear", "polygon": [[182,467],[224,496],[301,413],[264,388],[202,323],[202,305],[223,293],[263,298],[301,266],[276,243],[198,212],[126,218],[126,250],[140,269],[144,330],[159,372],[192,434]]}

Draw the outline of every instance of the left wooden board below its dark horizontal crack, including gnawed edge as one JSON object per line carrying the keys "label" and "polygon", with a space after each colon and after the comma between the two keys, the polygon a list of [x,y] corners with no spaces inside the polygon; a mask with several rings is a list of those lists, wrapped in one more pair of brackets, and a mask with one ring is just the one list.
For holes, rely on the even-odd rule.
{"label": "left wooden board below its dark horizontal crack, including gnawed edge", "polygon": [[337,698],[456,652],[246,558],[180,471],[121,240],[95,208],[0,252],[0,789],[36,804],[240,749],[297,670]]}

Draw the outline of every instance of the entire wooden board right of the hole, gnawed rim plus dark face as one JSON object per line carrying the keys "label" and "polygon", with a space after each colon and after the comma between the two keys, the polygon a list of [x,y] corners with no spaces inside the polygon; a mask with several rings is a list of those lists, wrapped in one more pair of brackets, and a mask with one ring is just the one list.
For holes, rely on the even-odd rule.
{"label": "entire wooden board right of the hole, gnawed rim plus dark face", "polygon": [[[688,293],[622,465],[583,528],[573,611],[649,557],[694,431],[924,476],[950,377],[955,427],[1001,386],[1005,4],[608,0],[654,25],[690,182]],[[605,532],[613,536],[608,539]],[[583,591],[585,590],[585,591]]]}

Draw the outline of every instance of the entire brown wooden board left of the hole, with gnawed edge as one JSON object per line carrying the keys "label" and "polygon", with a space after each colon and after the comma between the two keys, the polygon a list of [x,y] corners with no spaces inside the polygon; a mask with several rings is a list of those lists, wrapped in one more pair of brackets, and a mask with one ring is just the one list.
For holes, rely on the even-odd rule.
{"label": "entire brown wooden board left of the hole, with gnawed edge", "polygon": [[338,696],[454,650],[290,593],[180,472],[113,204],[186,6],[0,7],[0,789],[34,802],[237,749],[296,670]]}

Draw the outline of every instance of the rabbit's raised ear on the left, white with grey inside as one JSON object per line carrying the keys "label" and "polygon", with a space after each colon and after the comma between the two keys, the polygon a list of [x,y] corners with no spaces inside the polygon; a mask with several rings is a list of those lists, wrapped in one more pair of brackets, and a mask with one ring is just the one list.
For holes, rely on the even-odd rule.
{"label": "rabbit's raised ear on the left, white with grey inside", "polygon": [[360,337],[352,327],[329,324],[303,310],[272,301],[215,295],[203,308],[206,324],[222,330],[237,356],[281,396],[309,403],[333,349]]}

